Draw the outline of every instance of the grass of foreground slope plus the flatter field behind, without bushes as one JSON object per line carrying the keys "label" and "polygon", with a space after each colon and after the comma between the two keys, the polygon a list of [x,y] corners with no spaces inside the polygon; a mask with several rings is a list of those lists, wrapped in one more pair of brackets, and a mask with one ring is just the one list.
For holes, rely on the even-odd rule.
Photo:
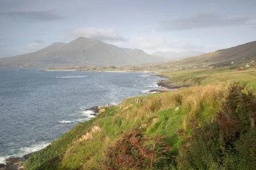
{"label": "grass of foreground slope plus the flatter field behind, without bushes", "polygon": [[[166,140],[176,156],[182,139],[177,129],[190,131],[190,120],[200,126],[221,108],[221,100],[230,82],[241,81],[256,89],[256,70],[199,68],[160,73],[169,81],[194,87],[125,99],[117,107],[106,108],[88,122],[79,123],[25,163],[26,170],[100,169],[105,150],[122,133],[140,129],[145,135],[169,135]],[[178,110],[176,110],[178,108]],[[176,111],[175,111],[176,110]],[[99,128],[93,131],[93,128]],[[170,155],[170,156],[171,156]]]}

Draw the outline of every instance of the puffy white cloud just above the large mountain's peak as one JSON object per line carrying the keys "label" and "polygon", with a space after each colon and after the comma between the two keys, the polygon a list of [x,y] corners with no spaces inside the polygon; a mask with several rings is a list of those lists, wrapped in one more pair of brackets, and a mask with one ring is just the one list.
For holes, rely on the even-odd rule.
{"label": "puffy white cloud just above the large mountain's peak", "polygon": [[127,41],[127,36],[117,34],[113,29],[104,28],[77,28],[69,33],[73,37],[86,37],[102,41]]}

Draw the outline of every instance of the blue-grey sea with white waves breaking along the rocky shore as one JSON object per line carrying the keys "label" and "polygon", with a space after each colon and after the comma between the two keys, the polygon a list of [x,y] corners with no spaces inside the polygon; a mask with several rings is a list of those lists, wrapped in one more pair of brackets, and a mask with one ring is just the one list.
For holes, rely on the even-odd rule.
{"label": "blue-grey sea with white waves breaking along the rocky shore", "polygon": [[145,95],[159,89],[162,79],[134,72],[26,70],[0,69],[0,163],[40,150],[89,120],[84,109]]}

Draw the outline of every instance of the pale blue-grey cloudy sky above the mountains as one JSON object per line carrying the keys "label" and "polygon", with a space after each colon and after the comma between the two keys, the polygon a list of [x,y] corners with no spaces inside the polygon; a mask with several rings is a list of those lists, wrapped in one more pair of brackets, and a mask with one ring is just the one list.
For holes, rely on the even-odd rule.
{"label": "pale blue-grey cloudy sky above the mountains", "polygon": [[0,57],[78,37],[212,52],[256,41],[256,0],[0,0]]}

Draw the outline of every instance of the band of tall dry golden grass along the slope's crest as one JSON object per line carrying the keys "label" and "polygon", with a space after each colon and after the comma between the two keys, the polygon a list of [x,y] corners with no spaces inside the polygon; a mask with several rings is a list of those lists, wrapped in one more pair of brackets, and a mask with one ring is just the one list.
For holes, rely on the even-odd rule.
{"label": "band of tall dry golden grass along the slope's crest", "polygon": [[[180,88],[177,91],[164,93],[163,95],[148,95],[143,103],[134,103],[131,107],[120,110],[118,116],[122,116],[125,123],[129,121],[143,121],[154,116],[154,113],[180,106],[183,115],[184,128],[191,127],[189,121],[202,116],[202,111],[218,111],[221,108],[220,99],[224,96],[224,87],[221,85],[208,85],[200,87]],[[124,101],[129,104],[133,101]],[[139,107],[138,107],[139,105]],[[125,107],[125,106],[124,106]]]}

